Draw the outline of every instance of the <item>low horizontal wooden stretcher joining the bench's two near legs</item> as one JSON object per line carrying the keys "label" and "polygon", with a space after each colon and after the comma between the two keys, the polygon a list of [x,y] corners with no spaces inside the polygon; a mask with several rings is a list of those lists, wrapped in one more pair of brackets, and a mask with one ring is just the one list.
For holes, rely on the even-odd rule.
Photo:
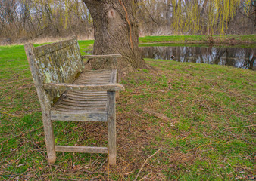
{"label": "low horizontal wooden stretcher joining the bench's two near legs", "polygon": [[108,153],[107,147],[95,146],[55,146],[56,152]]}

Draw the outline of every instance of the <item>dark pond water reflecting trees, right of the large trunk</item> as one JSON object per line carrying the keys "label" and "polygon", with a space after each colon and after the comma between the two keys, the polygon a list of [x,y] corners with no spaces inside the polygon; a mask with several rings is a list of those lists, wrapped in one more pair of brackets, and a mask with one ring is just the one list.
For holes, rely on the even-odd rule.
{"label": "dark pond water reflecting trees, right of the large trunk", "polygon": [[256,48],[204,48],[204,47],[140,47],[144,58],[178,62],[208,63],[256,69]]}

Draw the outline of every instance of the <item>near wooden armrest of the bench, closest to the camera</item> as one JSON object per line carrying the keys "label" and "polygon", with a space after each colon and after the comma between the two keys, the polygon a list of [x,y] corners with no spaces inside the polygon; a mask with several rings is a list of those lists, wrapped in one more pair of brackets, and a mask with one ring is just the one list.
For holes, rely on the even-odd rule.
{"label": "near wooden armrest of the bench, closest to the camera", "polygon": [[125,90],[122,84],[65,84],[65,83],[49,83],[43,84],[44,89],[54,90],[104,90],[118,91]]}

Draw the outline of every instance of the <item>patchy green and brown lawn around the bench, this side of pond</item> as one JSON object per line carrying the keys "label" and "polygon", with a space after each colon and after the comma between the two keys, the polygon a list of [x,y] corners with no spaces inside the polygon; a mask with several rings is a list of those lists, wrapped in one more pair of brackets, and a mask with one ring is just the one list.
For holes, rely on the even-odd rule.
{"label": "patchy green and brown lawn around the bench, this side of pond", "polygon": [[[80,41],[88,48],[91,41]],[[46,160],[42,115],[23,46],[0,47],[0,179],[255,179],[255,74],[170,60],[146,60],[120,82],[117,167],[107,155],[60,153]],[[55,121],[55,142],[105,146],[106,125]],[[237,128],[236,128],[237,127]]]}

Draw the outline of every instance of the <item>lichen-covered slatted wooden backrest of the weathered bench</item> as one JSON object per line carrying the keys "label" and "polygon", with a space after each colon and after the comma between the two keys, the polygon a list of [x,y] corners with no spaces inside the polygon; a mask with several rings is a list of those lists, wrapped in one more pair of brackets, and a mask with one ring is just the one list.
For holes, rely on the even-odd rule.
{"label": "lichen-covered slatted wooden backrest of the weathered bench", "polygon": [[[25,51],[36,89],[45,83],[72,83],[83,70],[76,38],[36,48],[33,44],[25,44]],[[47,90],[45,94],[53,102],[62,92]]]}

